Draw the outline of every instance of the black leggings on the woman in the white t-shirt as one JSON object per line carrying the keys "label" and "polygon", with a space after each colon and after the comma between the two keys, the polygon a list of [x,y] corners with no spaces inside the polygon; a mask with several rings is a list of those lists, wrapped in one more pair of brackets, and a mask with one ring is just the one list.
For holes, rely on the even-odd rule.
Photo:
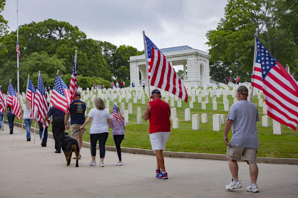
{"label": "black leggings on the woman in the white t-shirt", "polygon": [[91,156],[96,156],[96,144],[98,140],[99,156],[105,158],[105,142],[107,141],[109,133],[93,133],[90,134]]}

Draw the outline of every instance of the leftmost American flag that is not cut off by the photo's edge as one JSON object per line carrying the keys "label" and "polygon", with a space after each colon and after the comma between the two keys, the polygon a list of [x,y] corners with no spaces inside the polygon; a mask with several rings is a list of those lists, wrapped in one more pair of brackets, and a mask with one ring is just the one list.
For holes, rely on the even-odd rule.
{"label": "leftmost American flag that is not cut off by the photo's edge", "polygon": [[6,96],[6,104],[11,107],[11,113],[15,114],[18,119],[21,118],[21,107],[18,101],[18,96],[13,89],[13,85],[9,82],[7,96]]}

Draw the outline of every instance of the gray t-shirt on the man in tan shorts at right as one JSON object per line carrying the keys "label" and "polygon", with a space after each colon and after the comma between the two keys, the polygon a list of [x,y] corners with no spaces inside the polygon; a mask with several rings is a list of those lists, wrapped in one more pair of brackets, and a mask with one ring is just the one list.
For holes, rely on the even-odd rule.
{"label": "gray t-shirt on the man in tan shorts at right", "polygon": [[247,148],[259,148],[257,121],[260,121],[260,117],[256,105],[247,100],[240,100],[232,104],[227,120],[234,121],[230,144]]}

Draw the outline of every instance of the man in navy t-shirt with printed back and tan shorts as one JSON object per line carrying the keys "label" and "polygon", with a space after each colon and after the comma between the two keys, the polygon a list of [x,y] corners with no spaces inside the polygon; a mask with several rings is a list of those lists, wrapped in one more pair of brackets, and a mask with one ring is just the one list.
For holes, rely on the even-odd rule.
{"label": "man in navy t-shirt with printed back and tan shorts", "polygon": [[[85,122],[85,111],[86,111],[86,103],[80,100],[81,98],[81,94],[79,92],[77,92],[76,96],[75,96],[75,100],[70,104],[70,119],[71,119],[71,132],[74,133],[77,130],[80,129],[80,127],[82,126],[82,124]],[[69,114],[66,113],[65,117],[64,117],[64,125],[65,125],[65,129],[68,130],[69,126],[67,126],[68,123],[68,117]],[[82,144],[83,144],[83,134],[84,134],[84,129],[76,132],[73,135],[73,138],[75,138],[78,143],[79,143],[79,154],[82,148]],[[76,159],[74,157],[74,159]],[[80,156],[79,156],[80,159]]]}

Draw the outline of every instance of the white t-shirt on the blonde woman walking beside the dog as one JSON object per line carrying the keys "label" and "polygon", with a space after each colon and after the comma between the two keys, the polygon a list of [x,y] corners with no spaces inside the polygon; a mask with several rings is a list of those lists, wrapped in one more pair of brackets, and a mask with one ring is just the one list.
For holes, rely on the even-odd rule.
{"label": "white t-shirt on the blonde woman walking beside the dog", "polygon": [[108,118],[112,118],[110,112],[107,109],[99,110],[92,108],[88,116],[92,118],[90,127],[90,134],[94,133],[108,133]]}

